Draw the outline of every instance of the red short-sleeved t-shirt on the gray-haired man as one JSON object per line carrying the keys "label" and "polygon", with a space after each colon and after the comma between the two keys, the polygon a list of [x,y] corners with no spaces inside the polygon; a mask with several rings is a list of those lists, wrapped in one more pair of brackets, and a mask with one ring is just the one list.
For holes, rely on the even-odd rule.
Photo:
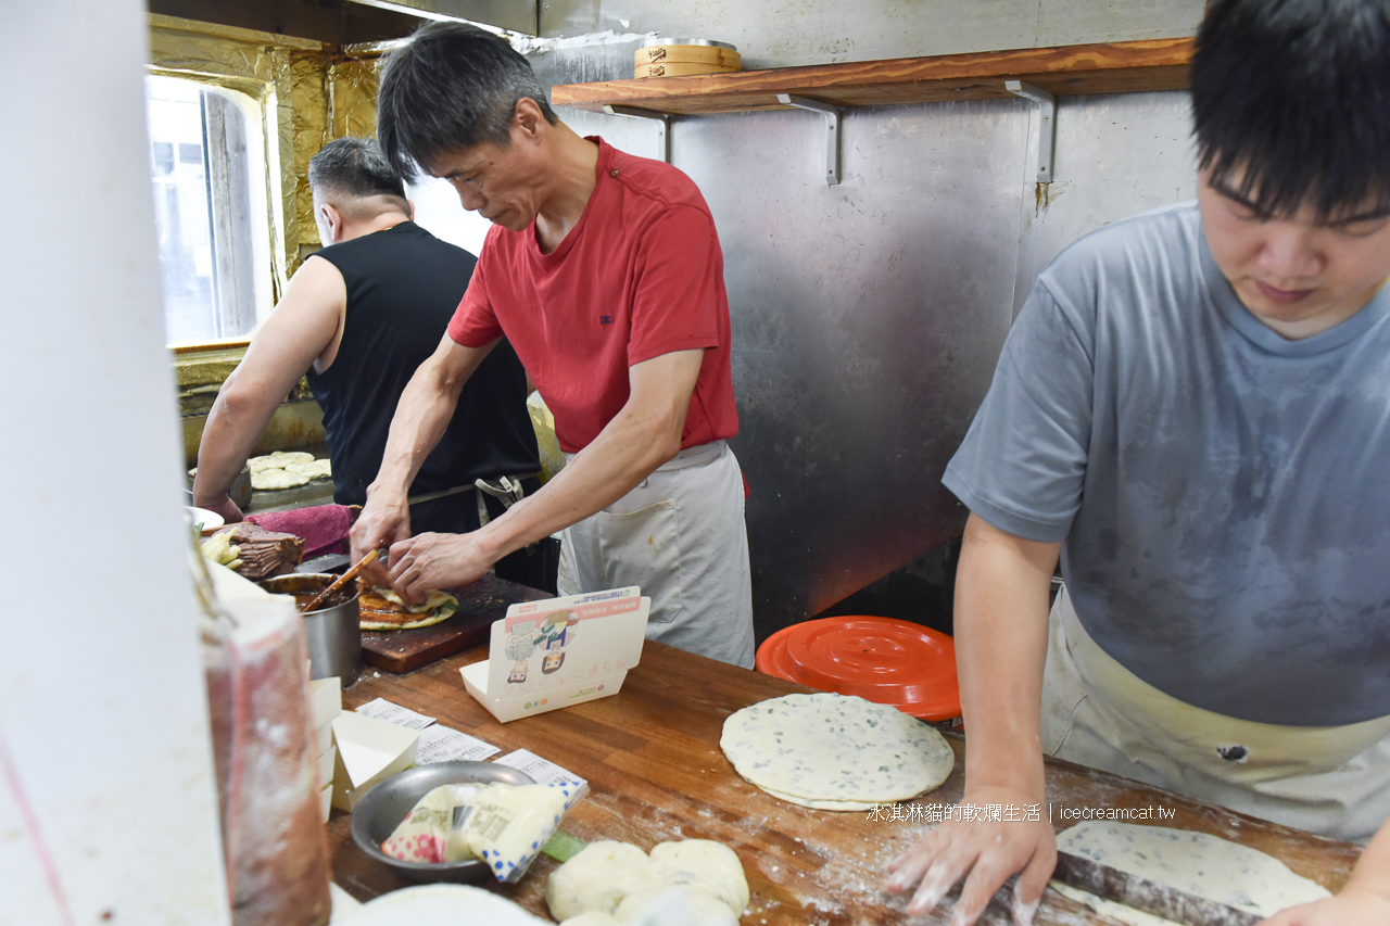
{"label": "red short-sleeved t-shirt on the gray-haired man", "polygon": [[724,256],[705,197],[681,171],[599,145],[598,184],[578,224],[542,254],[535,225],[488,231],[449,336],[506,335],[577,453],[628,398],[627,368],[703,349],[681,448],[738,432],[728,366]]}

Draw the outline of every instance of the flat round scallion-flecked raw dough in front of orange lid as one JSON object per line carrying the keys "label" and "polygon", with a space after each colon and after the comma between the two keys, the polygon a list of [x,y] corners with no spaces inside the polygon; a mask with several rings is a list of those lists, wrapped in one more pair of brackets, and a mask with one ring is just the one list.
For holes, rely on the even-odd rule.
{"label": "flat round scallion-flecked raw dough in front of orange lid", "polygon": [[922,720],[837,694],[749,705],[724,720],[719,745],[751,784],[837,804],[905,801],[935,788],[955,767],[945,738]]}

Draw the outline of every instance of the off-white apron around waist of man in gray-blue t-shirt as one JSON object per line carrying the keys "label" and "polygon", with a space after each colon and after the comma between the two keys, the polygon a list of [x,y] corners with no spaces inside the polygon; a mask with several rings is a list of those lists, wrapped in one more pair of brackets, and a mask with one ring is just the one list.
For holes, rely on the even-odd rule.
{"label": "off-white apron around waist of man in gray-blue t-shirt", "polygon": [[1193,706],[1101,649],[1066,588],[1048,637],[1045,754],[1334,838],[1365,843],[1390,816],[1390,717],[1286,727]]}

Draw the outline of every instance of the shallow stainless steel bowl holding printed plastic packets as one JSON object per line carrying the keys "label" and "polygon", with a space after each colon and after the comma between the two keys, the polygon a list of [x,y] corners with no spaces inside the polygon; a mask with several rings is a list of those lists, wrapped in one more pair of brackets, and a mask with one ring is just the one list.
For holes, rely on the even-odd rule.
{"label": "shallow stainless steel bowl holding printed plastic packets", "polygon": [[477,859],[467,862],[402,862],[381,851],[381,844],[410,816],[420,798],[443,784],[464,781],[535,784],[528,776],[493,762],[436,762],[418,765],[393,774],[357,802],[352,812],[352,840],[373,859],[410,882],[480,882],[492,879],[488,866]]}

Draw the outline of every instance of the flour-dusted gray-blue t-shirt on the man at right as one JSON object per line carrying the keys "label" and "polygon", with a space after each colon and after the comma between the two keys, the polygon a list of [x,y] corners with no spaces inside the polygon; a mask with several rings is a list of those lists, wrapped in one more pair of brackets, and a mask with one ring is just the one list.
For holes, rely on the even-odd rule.
{"label": "flour-dusted gray-blue t-shirt on the man at right", "polygon": [[1038,278],[944,482],[1065,541],[1081,624],[1161,691],[1264,723],[1390,715],[1387,313],[1390,286],[1284,341],[1195,203],[1116,222]]}

